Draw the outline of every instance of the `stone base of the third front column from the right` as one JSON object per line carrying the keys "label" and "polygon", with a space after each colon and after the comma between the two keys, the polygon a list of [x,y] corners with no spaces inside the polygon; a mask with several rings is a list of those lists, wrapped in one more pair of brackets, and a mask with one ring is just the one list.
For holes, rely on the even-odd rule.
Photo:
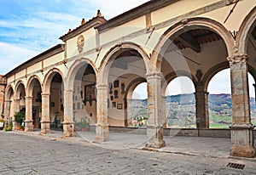
{"label": "stone base of the third front column from the right", "polygon": [[96,143],[108,142],[109,141],[109,129],[108,125],[96,125]]}

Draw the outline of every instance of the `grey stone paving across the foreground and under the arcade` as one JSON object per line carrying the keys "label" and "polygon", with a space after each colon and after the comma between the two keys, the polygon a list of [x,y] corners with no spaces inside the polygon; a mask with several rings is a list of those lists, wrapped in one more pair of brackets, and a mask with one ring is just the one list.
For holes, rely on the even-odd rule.
{"label": "grey stone paving across the foreground and under the arcade", "polygon": [[[141,150],[146,140],[140,140],[145,135],[110,133],[112,139],[105,144],[93,144],[90,142],[93,136],[93,132],[79,132],[77,137],[61,138],[61,132],[39,136],[38,132],[1,131],[0,174],[256,173],[256,159],[237,159],[227,153],[222,155],[222,151],[230,147],[227,138],[165,138],[166,148],[146,151]],[[131,144],[130,147],[124,148],[127,143]],[[216,154],[207,153],[209,151]],[[243,170],[227,167],[229,162],[245,167]]]}

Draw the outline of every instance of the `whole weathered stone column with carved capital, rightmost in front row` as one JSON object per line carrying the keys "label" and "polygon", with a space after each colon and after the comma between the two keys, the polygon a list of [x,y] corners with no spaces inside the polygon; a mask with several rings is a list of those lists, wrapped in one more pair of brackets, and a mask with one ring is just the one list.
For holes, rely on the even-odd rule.
{"label": "whole weathered stone column with carved capital, rightmost in front row", "polygon": [[253,125],[250,117],[250,104],[247,77],[247,55],[236,54],[230,61],[232,92],[232,125],[230,155],[255,157]]}

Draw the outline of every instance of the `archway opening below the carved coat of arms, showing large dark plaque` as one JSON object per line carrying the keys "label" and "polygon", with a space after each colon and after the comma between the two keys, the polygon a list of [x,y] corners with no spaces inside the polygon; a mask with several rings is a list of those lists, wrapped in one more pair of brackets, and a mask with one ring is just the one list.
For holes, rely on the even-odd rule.
{"label": "archway opening below the carved coat of arms, showing large dark plaque", "polygon": [[75,130],[95,130],[96,72],[87,63],[79,68],[73,82],[73,121]]}

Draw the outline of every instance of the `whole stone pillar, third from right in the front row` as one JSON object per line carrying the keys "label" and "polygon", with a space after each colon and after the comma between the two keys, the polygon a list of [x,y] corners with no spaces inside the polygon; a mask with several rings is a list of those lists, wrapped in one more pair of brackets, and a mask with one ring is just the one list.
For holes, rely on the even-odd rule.
{"label": "whole stone pillar, third from right in the front row", "polygon": [[98,84],[97,88],[97,124],[96,124],[96,143],[109,140],[108,129],[108,84]]}

